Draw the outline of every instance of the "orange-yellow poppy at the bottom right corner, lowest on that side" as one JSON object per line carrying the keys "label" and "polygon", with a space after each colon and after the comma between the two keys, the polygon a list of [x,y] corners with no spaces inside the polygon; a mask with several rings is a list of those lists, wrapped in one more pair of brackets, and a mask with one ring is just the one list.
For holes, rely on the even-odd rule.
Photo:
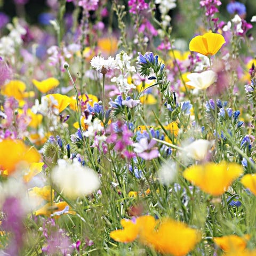
{"label": "orange-yellow poppy at the bottom right corner, lowest on that side", "polygon": [[243,251],[247,245],[247,241],[250,239],[250,235],[243,237],[237,235],[229,235],[222,237],[214,237],[213,242],[217,244],[223,251]]}

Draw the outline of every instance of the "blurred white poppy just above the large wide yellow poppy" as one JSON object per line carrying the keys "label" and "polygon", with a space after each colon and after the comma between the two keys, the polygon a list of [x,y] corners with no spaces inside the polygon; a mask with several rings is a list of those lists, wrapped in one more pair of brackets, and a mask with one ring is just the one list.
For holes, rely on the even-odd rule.
{"label": "blurred white poppy just above the large wide yellow poppy", "polygon": [[209,140],[195,140],[188,146],[183,147],[183,150],[188,157],[191,157],[197,161],[202,161],[207,157],[209,149],[212,147],[213,143]]}

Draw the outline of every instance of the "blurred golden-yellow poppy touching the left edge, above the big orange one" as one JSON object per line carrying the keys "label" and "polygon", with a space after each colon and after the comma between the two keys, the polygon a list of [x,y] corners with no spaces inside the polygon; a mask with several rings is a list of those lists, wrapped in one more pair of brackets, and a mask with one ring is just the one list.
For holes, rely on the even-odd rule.
{"label": "blurred golden-yellow poppy touching the left edge, above the big orange one", "polygon": [[30,95],[30,92],[25,92],[25,90],[25,83],[19,80],[11,80],[2,87],[1,93],[7,97],[13,97],[16,100],[22,100],[23,98],[33,96],[33,93]]}

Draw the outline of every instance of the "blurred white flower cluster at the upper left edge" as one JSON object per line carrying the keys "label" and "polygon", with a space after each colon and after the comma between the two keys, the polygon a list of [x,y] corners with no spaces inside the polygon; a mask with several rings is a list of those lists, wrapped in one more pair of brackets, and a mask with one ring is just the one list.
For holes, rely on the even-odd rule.
{"label": "blurred white flower cluster at the upper left edge", "polygon": [[27,31],[20,25],[18,19],[13,20],[13,25],[9,23],[6,27],[10,33],[0,39],[0,55],[2,57],[11,57],[15,53],[15,47],[22,45],[21,37]]}

